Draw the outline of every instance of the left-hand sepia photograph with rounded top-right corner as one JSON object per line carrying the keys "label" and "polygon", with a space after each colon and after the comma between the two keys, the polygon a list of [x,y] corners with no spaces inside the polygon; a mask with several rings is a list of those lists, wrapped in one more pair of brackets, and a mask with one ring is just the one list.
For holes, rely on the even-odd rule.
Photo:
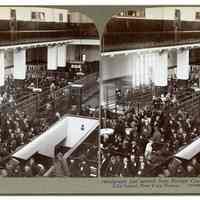
{"label": "left-hand sepia photograph with rounded top-right corner", "polygon": [[74,10],[0,7],[0,176],[96,177],[99,48]]}

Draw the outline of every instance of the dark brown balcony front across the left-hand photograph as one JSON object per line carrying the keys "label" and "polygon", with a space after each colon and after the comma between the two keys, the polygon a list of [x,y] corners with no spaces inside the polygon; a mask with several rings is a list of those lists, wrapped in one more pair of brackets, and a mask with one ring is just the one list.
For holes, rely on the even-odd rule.
{"label": "dark brown balcony front across the left-hand photograph", "polygon": [[98,39],[98,32],[94,24],[49,24],[45,22],[34,24],[34,26],[27,24],[27,22],[26,26],[17,24],[14,30],[10,30],[8,26],[1,28],[0,46],[66,39]]}

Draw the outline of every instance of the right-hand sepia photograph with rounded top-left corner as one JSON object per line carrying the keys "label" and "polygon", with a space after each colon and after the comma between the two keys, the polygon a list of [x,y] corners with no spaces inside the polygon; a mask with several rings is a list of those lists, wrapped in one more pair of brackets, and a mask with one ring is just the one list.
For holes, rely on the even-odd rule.
{"label": "right-hand sepia photograph with rounded top-left corner", "polygon": [[102,177],[200,175],[200,7],[121,8],[101,52]]}

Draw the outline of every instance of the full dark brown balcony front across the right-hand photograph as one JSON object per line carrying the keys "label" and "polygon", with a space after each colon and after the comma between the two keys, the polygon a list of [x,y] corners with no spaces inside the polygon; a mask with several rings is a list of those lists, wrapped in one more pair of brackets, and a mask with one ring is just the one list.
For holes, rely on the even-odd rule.
{"label": "full dark brown balcony front across the right-hand photograph", "polygon": [[103,51],[199,43],[200,23],[175,20],[111,19],[104,31]]}

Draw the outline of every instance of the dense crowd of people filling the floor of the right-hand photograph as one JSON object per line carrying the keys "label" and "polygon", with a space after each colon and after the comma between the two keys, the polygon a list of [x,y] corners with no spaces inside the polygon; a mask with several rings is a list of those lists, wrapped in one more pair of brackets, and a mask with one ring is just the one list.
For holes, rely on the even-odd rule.
{"label": "dense crowd of people filling the floor of the right-hand photograph", "polygon": [[[195,140],[200,129],[198,117],[179,109],[178,105],[176,94],[167,93],[153,97],[152,103],[140,110],[132,104],[124,114],[107,110],[101,124],[112,129],[113,134],[101,136],[101,175],[178,176],[182,161],[175,165],[174,159],[168,158]],[[191,176],[190,171],[195,171],[191,170],[194,163],[192,169],[199,166],[200,160],[194,160],[189,167],[185,166],[184,176]],[[199,174],[196,170],[195,175]]]}

